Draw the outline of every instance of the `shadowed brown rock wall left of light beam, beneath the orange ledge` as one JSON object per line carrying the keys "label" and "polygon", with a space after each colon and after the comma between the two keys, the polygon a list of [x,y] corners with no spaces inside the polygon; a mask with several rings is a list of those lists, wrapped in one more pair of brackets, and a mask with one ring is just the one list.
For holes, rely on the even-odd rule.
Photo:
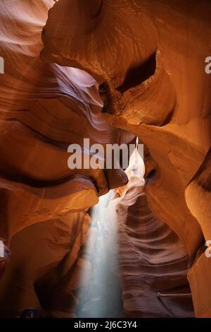
{"label": "shadowed brown rock wall left of light beam, beneath the orange ledge", "polygon": [[[72,266],[77,262],[80,249],[86,241],[88,225],[89,216],[69,213],[63,218],[25,227],[13,237],[11,260],[0,283],[1,316],[20,315],[27,307],[34,307],[41,312],[40,303],[46,309],[44,296],[49,295],[49,290],[52,295],[58,280],[63,280],[67,273],[69,276],[72,274]],[[50,273],[48,284],[41,296],[37,286],[38,298],[34,284],[47,273]],[[75,269],[71,280],[69,278],[72,292],[79,287],[76,281],[78,275],[79,271]]]}

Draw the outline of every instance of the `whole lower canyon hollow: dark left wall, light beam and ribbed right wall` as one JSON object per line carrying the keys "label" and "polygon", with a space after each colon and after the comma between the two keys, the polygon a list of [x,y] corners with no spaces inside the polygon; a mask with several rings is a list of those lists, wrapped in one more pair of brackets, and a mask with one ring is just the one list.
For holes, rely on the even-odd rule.
{"label": "whole lower canyon hollow: dark left wall, light beam and ribbed right wall", "polygon": [[0,283],[1,312],[18,316],[35,307],[53,317],[193,317],[186,250],[151,212],[144,172],[136,148],[128,183],[85,215],[38,223],[14,237]]}

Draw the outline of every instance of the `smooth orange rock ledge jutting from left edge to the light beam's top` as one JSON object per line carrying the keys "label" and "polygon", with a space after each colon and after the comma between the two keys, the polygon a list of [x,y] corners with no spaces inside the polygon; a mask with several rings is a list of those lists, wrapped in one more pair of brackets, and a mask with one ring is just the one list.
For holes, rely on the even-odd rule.
{"label": "smooth orange rock ledge jutting from left edge to the light beam's top", "polygon": [[1,215],[6,215],[2,229],[8,237],[28,225],[85,210],[98,202],[94,184],[80,177],[44,188],[5,179],[0,183],[1,203],[4,204]]}

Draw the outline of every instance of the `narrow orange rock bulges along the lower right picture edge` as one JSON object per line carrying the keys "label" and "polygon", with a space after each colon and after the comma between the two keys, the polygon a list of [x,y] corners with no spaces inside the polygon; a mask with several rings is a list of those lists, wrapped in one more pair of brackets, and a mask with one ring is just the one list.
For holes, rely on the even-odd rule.
{"label": "narrow orange rock bulges along the lower right picture edge", "polygon": [[[207,241],[207,247],[201,248],[198,256],[188,271],[188,280],[193,294],[195,313],[197,317],[211,316],[210,295],[210,206],[211,201],[211,150],[208,151],[203,164],[186,188],[186,202],[191,213],[196,216]],[[209,256],[205,256],[206,251]],[[206,292],[204,291],[206,290]]]}

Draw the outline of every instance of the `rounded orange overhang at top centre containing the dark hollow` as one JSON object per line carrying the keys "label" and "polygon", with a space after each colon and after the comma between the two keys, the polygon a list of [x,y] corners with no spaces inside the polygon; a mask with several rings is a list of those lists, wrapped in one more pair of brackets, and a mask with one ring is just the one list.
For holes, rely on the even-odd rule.
{"label": "rounded orange overhang at top centre containing the dark hollow", "polygon": [[[78,8],[82,3],[83,17]],[[156,49],[153,24],[135,1],[98,1],[97,8],[93,28],[87,1],[63,0],[53,6],[42,34],[41,59],[83,69],[96,78],[103,112],[121,115],[129,124],[162,124],[174,108],[175,94]],[[124,16],[126,12],[130,15]],[[86,29],[80,32],[78,25]]]}

